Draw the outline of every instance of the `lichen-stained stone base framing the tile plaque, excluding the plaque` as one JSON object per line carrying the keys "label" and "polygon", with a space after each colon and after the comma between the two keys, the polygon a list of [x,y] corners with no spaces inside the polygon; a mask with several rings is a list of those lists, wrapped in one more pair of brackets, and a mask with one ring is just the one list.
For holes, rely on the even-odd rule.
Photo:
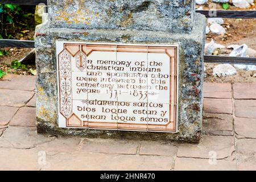
{"label": "lichen-stained stone base framing the tile plaque, excluding the plaque", "polygon": [[[199,141],[203,111],[203,50],[206,18],[201,14],[196,14],[195,18],[196,22],[191,34],[49,28],[47,23],[38,27],[35,39],[38,71],[36,83],[38,132],[82,137]],[[177,120],[179,132],[172,134],[59,128],[57,122],[56,41],[179,44],[179,112]]]}

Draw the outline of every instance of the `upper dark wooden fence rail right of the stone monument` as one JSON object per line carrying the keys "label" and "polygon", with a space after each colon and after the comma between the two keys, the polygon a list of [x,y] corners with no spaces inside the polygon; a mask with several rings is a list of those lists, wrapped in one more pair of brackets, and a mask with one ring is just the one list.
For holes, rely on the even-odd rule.
{"label": "upper dark wooden fence rail right of the stone monument", "polygon": [[196,10],[196,12],[205,15],[207,18],[256,18],[255,10]]}

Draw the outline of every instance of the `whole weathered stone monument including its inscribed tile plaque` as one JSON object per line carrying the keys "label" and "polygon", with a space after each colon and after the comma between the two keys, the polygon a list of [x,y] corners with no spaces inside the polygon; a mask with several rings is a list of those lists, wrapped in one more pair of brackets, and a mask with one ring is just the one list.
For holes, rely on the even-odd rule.
{"label": "whole weathered stone monument including its inscribed tile plaque", "polygon": [[195,0],[48,0],[38,133],[199,141],[205,27]]}

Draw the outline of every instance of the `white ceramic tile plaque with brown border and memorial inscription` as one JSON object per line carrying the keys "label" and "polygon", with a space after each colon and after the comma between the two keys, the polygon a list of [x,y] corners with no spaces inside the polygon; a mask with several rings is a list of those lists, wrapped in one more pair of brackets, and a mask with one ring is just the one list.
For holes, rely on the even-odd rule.
{"label": "white ceramic tile plaque with brown border and memorial inscription", "polygon": [[177,46],[56,49],[59,127],[177,132]]}

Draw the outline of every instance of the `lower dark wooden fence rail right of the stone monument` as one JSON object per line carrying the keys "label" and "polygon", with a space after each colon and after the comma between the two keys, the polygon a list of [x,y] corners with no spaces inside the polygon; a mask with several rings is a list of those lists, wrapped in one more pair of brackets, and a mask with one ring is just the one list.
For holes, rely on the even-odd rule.
{"label": "lower dark wooden fence rail right of the stone monument", "polygon": [[204,55],[204,63],[229,63],[229,64],[250,64],[256,65],[256,57],[230,57],[230,56],[209,56]]}

